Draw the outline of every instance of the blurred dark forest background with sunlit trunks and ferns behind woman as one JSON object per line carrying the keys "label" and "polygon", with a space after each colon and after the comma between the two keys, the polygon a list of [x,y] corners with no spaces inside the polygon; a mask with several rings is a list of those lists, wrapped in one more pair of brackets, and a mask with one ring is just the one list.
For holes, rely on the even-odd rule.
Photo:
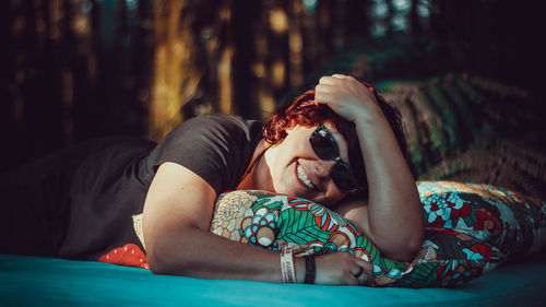
{"label": "blurred dark forest background with sunlit trunks and ferns behind woman", "polygon": [[545,197],[541,1],[1,2],[0,170],[202,114],[265,119],[340,72],[401,108],[418,178]]}

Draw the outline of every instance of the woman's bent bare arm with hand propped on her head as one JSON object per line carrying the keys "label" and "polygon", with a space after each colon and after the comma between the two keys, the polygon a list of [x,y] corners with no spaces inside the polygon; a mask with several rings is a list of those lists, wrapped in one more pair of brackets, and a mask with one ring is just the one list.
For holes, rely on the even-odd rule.
{"label": "woman's bent bare arm with hand propped on her head", "polygon": [[368,205],[334,208],[360,226],[387,256],[411,261],[423,241],[423,215],[415,180],[373,93],[352,76],[324,76],[314,98],[355,123],[368,180]]}

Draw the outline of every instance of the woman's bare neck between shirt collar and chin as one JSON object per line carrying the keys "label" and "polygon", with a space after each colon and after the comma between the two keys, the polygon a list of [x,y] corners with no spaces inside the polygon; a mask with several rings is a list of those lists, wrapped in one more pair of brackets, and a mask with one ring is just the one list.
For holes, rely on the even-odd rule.
{"label": "woman's bare neck between shirt collar and chin", "polygon": [[271,182],[271,175],[263,158],[268,147],[269,144],[263,139],[258,143],[252,161],[247,167],[241,182],[237,186],[237,190],[269,190],[266,187],[270,186],[268,182]]}

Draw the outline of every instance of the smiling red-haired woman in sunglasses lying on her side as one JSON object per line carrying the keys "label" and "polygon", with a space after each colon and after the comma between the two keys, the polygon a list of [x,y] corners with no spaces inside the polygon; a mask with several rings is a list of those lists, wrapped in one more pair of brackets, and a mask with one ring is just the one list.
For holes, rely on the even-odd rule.
{"label": "smiling red-haired woman in sunglasses lying on her side", "polygon": [[[182,123],[157,146],[100,142],[99,150],[86,144],[27,166],[2,179],[1,186],[10,187],[7,199],[15,199],[7,202],[4,216],[26,217],[25,224],[3,221],[3,234],[17,229],[7,238],[17,249],[8,244],[2,251],[96,259],[121,243],[138,243],[127,225],[143,212],[154,272],[281,282],[278,252],[209,232],[218,193],[236,188],[329,205],[364,229],[387,257],[411,260],[423,238],[422,208],[396,113],[377,99],[372,88],[334,74],[320,80],[314,98],[307,93],[293,105],[304,111],[288,107],[266,122],[263,137],[260,122],[210,116]],[[294,111],[304,116],[290,117]],[[307,111],[319,116],[306,117]],[[93,154],[86,152],[91,147]],[[33,180],[40,186],[33,189],[56,197],[27,192],[32,200],[22,201],[29,188],[25,179],[36,168],[51,169],[40,173],[47,178]],[[45,184],[52,186],[44,189]],[[355,197],[344,202],[349,194]],[[10,205],[17,202],[29,205]],[[319,256],[316,264],[319,284],[358,284],[371,276],[368,262],[344,252]],[[297,282],[304,282],[304,260],[294,259],[294,267]]]}

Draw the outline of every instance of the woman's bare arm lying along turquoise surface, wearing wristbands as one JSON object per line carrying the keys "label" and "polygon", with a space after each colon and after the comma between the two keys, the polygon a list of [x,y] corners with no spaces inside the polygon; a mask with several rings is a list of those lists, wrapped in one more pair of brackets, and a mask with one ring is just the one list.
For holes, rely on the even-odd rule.
{"label": "woman's bare arm lying along turquoise surface, wearing wristbands", "polygon": [[[143,233],[154,273],[205,279],[282,282],[280,253],[230,241],[209,232],[216,193],[201,177],[176,163],[159,166],[150,187]],[[297,282],[305,261],[294,258]],[[357,284],[351,273],[371,267],[346,252],[317,257],[320,284]]]}

